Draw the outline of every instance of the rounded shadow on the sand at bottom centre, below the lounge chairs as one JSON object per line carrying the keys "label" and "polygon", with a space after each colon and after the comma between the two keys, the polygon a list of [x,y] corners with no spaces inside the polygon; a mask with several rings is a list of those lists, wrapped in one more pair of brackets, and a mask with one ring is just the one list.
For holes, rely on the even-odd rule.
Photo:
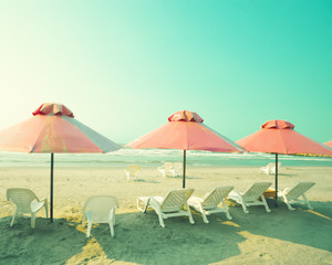
{"label": "rounded shadow on the sand at bottom centre, below the lounge chairs", "polygon": [[163,229],[154,211],[133,212],[117,215],[114,239],[110,237],[106,225],[93,229],[92,233],[107,257],[115,261],[210,264],[239,255],[238,244],[245,239],[236,233],[238,227],[221,221],[214,223],[190,225],[186,218],[174,218],[165,220]]}

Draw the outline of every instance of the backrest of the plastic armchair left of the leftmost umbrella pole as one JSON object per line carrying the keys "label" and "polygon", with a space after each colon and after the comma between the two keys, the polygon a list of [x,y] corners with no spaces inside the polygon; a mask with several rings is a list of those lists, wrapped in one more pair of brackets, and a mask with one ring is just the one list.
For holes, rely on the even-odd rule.
{"label": "backrest of the plastic armchair left of the leftmost umbrella pole", "polygon": [[39,201],[32,190],[24,188],[12,188],[7,190],[7,200],[17,205],[18,213],[31,213],[31,202]]}

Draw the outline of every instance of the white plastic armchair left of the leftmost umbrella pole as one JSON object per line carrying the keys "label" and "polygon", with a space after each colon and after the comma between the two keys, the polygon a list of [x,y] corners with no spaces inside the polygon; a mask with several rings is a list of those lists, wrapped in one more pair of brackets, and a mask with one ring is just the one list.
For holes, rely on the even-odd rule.
{"label": "white plastic armchair left of the leftmost umbrella pole", "polygon": [[24,188],[12,188],[7,190],[7,200],[12,201],[17,209],[11,219],[10,226],[13,225],[17,214],[31,214],[31,227],[35,226],[35,214],[42,209],[45,208],[46,218],[48,214],[48,199],[38,199],[32,190]]}

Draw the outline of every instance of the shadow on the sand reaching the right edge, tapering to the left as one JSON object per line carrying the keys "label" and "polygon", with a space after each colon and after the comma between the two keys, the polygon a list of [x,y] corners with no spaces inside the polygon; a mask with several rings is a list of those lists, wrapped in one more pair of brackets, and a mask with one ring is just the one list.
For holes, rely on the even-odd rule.
{"label": "shadow on the sand reaching the right edge, tapering to the left", "polygon": [[290,211],[284,203],[279,203],[278,208],[274,208],[271,201],[269,205],[272,212],[259,216],[261,226],[249,216],[242,219],[240,223],[252,234],[331,252],[332,202],[310,201],[310,204],[313,210],[295,203],[292,204],[295,210]]}

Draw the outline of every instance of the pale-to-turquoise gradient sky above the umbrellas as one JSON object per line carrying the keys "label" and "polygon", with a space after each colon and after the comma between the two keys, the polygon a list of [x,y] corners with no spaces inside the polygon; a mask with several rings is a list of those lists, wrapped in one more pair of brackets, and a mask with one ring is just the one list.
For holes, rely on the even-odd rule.
{"label": "pale-to-turquoise gradient sky above the umbrellas", "polygon": [[126,144],[177,110],[332,140],[332,1],[0,0],[0,129],[62,103]]}

